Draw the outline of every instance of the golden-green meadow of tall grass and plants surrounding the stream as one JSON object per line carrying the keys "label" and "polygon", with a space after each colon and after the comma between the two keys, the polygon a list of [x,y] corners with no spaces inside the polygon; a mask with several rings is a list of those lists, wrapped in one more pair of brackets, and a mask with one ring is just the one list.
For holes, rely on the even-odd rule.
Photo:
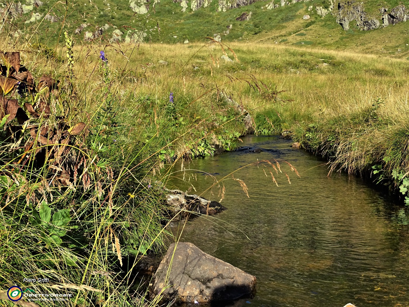
{"label": "golden-green meadow of tall grass and plants surrounding the stream", "polygon": [[128,269],[173,240],[167,167],[234,150],[246,133],[292,131],[330,172],[407,195],[407,60],[211,39],[76,45],[70,34],[61,48],[0,49],[19,51],[33,77],[17,84],[22,70],[2,53],[2,290],[41,276],[54,288],[25,286],[75,293],[67,306],[157,304]]}

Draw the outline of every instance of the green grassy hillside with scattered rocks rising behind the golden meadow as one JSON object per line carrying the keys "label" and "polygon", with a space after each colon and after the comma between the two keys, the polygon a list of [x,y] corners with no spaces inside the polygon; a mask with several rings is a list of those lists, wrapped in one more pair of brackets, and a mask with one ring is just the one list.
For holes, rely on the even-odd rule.
{"label": "green grassy hillside with scattered rocks rising behind the golden meadow", "polygon": [[[3,0],[4,1],[4,0]],[[32,0],[21,3],[30,5]],[[274,1],[273,1],[274,2]],[[151,43],[183,43],[204,42],[207,36],[220,35],[222,41],[264,42],[284,45],[301,45],[304,48],[323,47],[334,50],[350,50],[362,53],[383,54],[391,57],[408,57],[409,44],[408,23],[400,23],[386,28],[371,31],[361,31],[351,22],[351,28],[344,31],[336,22],[337,2],[333,14],[325,17],[317,14],[315,7],[330,7],[327,0],[297,2],[283,7],[267,9],[268,1],[258,1],[251,5],[227,9],[217,12],[218,2],[213,0],[208,7],[192,11],[189,7],[182,12],[178,2],[162,0],[157,4],[150,4],[148,14],[136,14],[129,7],[126,0],[95,0],[76,2],[44,1],[44,5],[29,11],[13,20],[9,31],[20,33],[20,40],[31,43],[43,43],[55,46],[61,40],[63,30],[74,34],[81,24],[89,24],[80,34],[74,34],[77,41],[84,39],[85,32],[94,33],[99,27],[106,27],[100,37],[93,41],[109,42],[113,31],[120,31],[119,37],[126,41],[126,36],[138,38],[140,41]],[[366,0],[365,11],[381,21],[379,9],[391,8],[405,2]],[[6,2],[3,3],[6,5]],[[279,2],[276,1],[278,5]],[[312,6],[312,9],[309,8]],[[249,20],[238,21],[236,18],[244,12],[252,12]],[[33,14],[40,14],[37,21],[25,23]],[[59,22],[51,23],[43,18],[49,14],[59,18]],[[308,14],[309,19],[303,20]],[[63,27],[61,22],[64,21]],[[382,24],[382,21],[381,21]],[[231,27],[230,27],[231,25]],[[107,27],[108,26],[108,27]],[[229,28],[228,28],[229,27]],[[34,32],[34,34],[32,34]],[[29,34],[30,33],[30,34]],[[29,34],[29,35],[28,35]],[[128,40],[129,41],[129,40]],[[115,43],[115,42],[112,42]]]}

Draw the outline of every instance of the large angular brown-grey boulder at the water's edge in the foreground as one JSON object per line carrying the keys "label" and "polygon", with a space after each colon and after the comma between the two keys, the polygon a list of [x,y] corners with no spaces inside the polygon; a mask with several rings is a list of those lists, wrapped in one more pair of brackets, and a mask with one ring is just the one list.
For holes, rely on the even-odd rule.
{"label": "large angular brown-grey boulder at the water's edge in the foreground", "polygon": [[207,304],[234,300],[251,293],[255,286],[255,276],[204,253],[191,243],[179,242],[169,246],[155,273],[153,291],[162,293],[164,301],[194,304],[196,300]]}

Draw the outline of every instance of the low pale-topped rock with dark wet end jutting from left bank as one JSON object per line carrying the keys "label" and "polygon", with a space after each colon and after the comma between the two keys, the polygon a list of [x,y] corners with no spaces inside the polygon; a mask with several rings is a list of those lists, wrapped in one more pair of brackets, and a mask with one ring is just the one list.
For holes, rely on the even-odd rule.
{"label": "low pale-topped rock with dark wet end jutting from left bank", "polygon": [[166,188],[165,191],[167,192],[166,203],[173,208],[173,215],[178,214],[180,211],[182,211],[182,217],[187,217],[192,212],[214,215],[226,210],[217,201],[209,201],[196,194],[187,194],[180,190],[168,190]]}

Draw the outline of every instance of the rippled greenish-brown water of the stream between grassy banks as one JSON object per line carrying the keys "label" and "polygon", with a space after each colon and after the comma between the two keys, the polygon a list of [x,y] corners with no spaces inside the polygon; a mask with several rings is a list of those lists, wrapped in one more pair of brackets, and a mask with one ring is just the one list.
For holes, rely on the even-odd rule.
{"label": "rippled greenish-brown water of the stream between grassy banks", "polygon": [[[286,160],[301,178],[280,162],[285,175],[248,167],[227,180],[217,219],[189,221],[181,241],[192,242],[257,277],[252,306],[409,306],[409,212],[384,194],[346,174],[327,176],[324,161],[276,137],[249,136],[245,145],[269,149],[233,152],[198,159],[189,167],[218,179],[258,160]],[[187,165],[185,165],[187,167]],[[270,167],[270,169],[272,169]],[[198,193],[213,182],[198,171],[191,178]],[[231,177],[230,177],[231,178]],[[178,180],[175,185],[187,187]],[[205,197],[218,200],[218,191]],[[175,229],[175,232],[177,230]],[[237,305],[237,304],[236,304]]]}

